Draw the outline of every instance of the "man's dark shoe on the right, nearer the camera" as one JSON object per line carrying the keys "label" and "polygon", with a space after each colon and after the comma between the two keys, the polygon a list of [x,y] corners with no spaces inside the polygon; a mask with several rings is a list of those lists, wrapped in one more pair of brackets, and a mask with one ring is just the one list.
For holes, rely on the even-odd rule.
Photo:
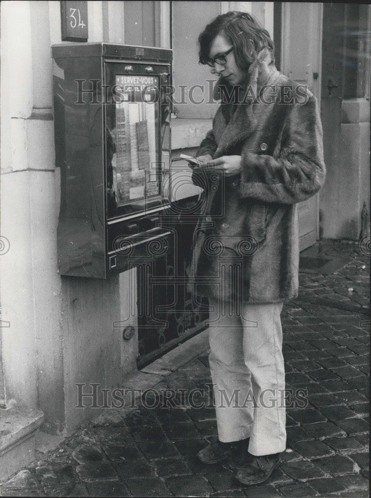
{"label": "man's dark shoe on the right, nearer the camera", "polygon": [[260,457],[251,456],[252,458],[249,462],[241,467],[236,474],[236,479],[242,484],[255,485],[263,483],[269,479],[271,473],[281,463],[281,453]]}

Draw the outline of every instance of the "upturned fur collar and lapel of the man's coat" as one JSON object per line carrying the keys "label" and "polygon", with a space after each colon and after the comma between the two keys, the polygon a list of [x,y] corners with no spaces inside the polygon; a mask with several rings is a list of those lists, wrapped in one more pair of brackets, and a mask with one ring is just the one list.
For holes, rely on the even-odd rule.
{"label": "upturned fur collar and lapel of the man's coat", "polygon": [[[215,125],[219,127],[220,139],[214,157],[223,155],[226,150],[244,140],[256,128],[254,108],[259,105],[259,92],[264,85],[271,84],[278,75],[272,53],[263,48],[247,70],[247,77],[240,87],[241,101],[244,104],[223,103],[218,110]],[[222,77],[219,78],[214,98],[221,98],[220,87],[224,85],[231,95],[233,87]]]}

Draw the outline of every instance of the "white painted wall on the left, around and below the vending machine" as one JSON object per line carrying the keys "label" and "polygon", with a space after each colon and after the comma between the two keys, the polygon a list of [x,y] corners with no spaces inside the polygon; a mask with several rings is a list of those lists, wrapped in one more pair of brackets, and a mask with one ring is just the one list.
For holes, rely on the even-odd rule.
{"label": "white painted wall on the left, around and below the vending machine", "polygon": [[[88,12],[89,41],[102,41],[102,2],[89,1]],[[10,328],[0,331],[7,398],[39,407],[51,431],[71,432],[97,414],[75,408],[76,382],[116,387],[136,368],[136,338],[122,340],[122,328],[137,325],[135,306],[128,313],[135,270],[94,282],[57,274],[53,43],[60,2],[1,2],[0,227],[10,249],[0,256],[0,296]]]}

